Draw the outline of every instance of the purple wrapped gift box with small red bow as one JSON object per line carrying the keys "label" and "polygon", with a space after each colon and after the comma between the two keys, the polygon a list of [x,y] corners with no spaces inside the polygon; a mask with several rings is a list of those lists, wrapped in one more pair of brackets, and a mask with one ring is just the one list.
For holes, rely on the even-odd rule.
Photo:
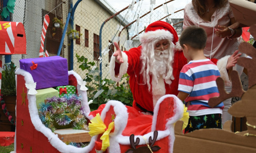
{"label": "purple wrapped gift box with small red bow", "polygon": [[68,61],[60,56],[22,59],[19,60],[19,65],[20,69],[24,69],[32,75],[36,82],[36,89],[69,84]]}

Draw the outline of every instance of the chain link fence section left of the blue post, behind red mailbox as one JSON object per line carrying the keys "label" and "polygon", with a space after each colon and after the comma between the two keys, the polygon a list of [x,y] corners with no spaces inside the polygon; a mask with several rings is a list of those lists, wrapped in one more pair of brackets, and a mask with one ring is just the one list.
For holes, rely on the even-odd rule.
{"label": "chain link fence section left of the blue post, behind red mailbox", "polygon": [[[22,22],[24,24],[26,39],[27,39],[27,54],[26,55],[12,55],[11,61],[19,67],[20,59],[27,58],[38,58],[40,41],[41,41],[41,31],[42,23],[44,21],[44,16],[48,14],[50,16],[50,23],[46,34],[45,46],[44,48],[48,50],[50,56],[54,56],[57,53],[56,48],[58,48],[59,43],[55,46],[50,46],[50,42],[53,39],[57,39],[60,42],[62,35],[62,29],[58,30],[59,34],[55,37],[52,36],[53,27],[53,17],[62,18],[63,22],[66,22],[66,18],[69,11],[68,0],[19,0],[15,2],[14,13],[10,14],[10,21],[12,22]],[[0,13],[3,9],[3,0],[0,1],[2,6]],[[1,19],[3,20],[3,19]],[[50,44],[50,45],[49,45]],[[68,44],[67,38],[64,44]],[[47,46],[48,45],[48,46]],[[62,48],[62,57],[68,58],[68,48]],[[3,64],[5,64],[5,56],[3,56]]]}

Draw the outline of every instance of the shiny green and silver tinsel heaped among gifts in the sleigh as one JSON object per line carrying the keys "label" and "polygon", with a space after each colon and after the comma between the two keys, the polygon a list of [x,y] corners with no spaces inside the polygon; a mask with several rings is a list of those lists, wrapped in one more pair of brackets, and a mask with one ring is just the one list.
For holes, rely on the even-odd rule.
{"label": "shiny green and silver tinsel heaped among gifts in the sleigh", "polygon": [[42,123],[52,132],[69,125],[76,130],[88,129],[86,112],[81,107],[81,96],[76,94],[47,98],[45,103],[40,104],[38,114]]}

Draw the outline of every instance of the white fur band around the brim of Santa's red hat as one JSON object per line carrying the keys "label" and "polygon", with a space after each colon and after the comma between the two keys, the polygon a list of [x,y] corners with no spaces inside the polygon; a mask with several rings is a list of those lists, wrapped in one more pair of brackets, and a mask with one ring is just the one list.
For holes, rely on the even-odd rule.
{"label": "white fur band around the brim of Santa's red hat", "polygon": [[156,31],[148,31],[140,35],[140,42],[151,42],[153,40],[162,40],[162,39],[169,39],[173,41],[174,35],[166,30],[156,30]]}

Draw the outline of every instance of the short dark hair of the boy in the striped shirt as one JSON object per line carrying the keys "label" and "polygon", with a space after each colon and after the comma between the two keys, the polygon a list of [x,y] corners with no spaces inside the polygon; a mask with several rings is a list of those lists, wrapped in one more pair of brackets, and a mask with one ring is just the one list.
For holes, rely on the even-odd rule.
{"label": "short dark hair of the boy in the striped shirt", "polygon": [[180,45],[183,48],[183,44],[189,45],[194,49],[204,49],[206,45],[207,34],[201,27],[191,25],[184,29],[179,38]]}

